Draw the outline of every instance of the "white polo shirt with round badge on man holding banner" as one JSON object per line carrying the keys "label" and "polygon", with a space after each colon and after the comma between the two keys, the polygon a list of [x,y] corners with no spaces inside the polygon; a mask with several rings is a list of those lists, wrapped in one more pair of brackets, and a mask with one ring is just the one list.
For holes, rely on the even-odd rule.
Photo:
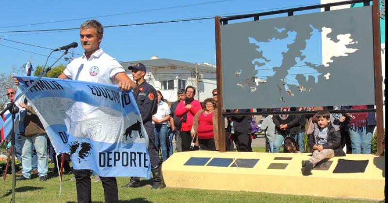
{"label": "white polo shirt with round badge on man holding banner", "polygon": [[89,59],[85,54],[72,60],[64,70],[72,80],[95,83],[116,84],[114,77],[117,73],[125,72],[124,68],[102,49],[98,49]]}

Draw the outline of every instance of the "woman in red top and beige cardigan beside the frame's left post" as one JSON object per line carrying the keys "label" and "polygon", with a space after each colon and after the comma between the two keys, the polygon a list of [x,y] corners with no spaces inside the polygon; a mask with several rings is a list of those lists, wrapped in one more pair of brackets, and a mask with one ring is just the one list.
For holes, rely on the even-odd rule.
{"label": "woman in red top and beige cardigan beside the frame's left post", "polygon": [[194,135],[198,136],[201,150],[218,150],[218,121],[216,102],[209,98],[202,104],[202,110],[194,116]]}

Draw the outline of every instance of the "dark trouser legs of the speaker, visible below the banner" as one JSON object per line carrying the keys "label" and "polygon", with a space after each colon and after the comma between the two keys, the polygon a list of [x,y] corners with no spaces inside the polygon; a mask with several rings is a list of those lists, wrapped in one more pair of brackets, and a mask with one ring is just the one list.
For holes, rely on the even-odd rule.
{"label": "dark trouser legs of the speaker, visible below the banner", "polygon": [[[77,200],[79,203],[92,202],[90,170],[74,170],[76,178]],[[100,177],[106,203],[118,203],[118,189],[115,177]]]}

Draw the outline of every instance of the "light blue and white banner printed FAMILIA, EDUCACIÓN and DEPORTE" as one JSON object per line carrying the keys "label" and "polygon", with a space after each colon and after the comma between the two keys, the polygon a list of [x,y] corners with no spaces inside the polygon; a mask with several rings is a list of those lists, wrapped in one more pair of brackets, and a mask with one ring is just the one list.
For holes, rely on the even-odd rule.
{"label": "light blue and white banner printed FAMILIA, EDUCACI\u00d3N and DEPORTE", "polygon": [[[37,79],[15,76],[21,90]],[[55,151],[71,155],[74,169],[100,176],[150,178],[148,136],[132,91],[117,86],[42,78],[26,98]]]}

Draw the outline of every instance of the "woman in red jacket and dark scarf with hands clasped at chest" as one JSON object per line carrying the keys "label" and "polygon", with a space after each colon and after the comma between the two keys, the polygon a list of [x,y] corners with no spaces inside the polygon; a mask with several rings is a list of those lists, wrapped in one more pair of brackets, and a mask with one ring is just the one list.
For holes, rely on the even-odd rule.
{"label": "woman in red jacket and dark scarf with hands clasped at chest", "polygon": [[194,100],[195,88],[192,86],[186,87],[186,99],[178,103],[175,110],[175,116],[180,117],[178,129],[182,140],[182,151],[190,151],[191,144],[191,129],[193,128],[194,115],[201,110],[201,103]]}

